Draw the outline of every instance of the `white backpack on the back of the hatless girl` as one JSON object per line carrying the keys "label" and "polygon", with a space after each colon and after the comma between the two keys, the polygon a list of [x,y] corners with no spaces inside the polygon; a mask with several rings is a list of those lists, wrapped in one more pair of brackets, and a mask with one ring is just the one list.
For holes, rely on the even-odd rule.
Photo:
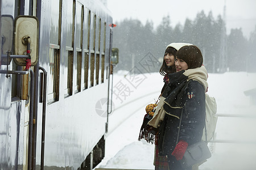
{"label": "white backpack on the back of the hatless girl", "polygon": [[[217,113],[217,103],[214,97],[210,97],[205,94],[205,126],[207,129],[207,141],[213,138],[216,129],[216,124],[218,117]],[[202,140],[205,141],[205,128],[203,130]]]}

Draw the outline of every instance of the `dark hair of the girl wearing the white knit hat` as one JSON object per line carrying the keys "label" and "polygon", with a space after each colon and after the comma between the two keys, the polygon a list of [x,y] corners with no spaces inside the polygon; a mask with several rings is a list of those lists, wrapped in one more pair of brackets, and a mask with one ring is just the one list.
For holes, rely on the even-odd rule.
{"label": "dark hair of the girl wearing the white knit hat", "polygon": [[[176,53],[177,53],[177,50],[175,48],[172,48],[171,46],[169,46],[166,51],[164,52],[164,56],[166,54],[172,54],[174,55],[174,57],[176,56]],[[171,66],[171,67],[168,67],[166,65],[166,62],[164,61],[164,57],[163,57],[163,64],[162,66],[160,67],[160,70],[159,70],[159,73],[161,75],[166,75],[166,74],[171,74],[171,73],[175,73],[176,72],[176,67],[175,65],[174,66]]]}

